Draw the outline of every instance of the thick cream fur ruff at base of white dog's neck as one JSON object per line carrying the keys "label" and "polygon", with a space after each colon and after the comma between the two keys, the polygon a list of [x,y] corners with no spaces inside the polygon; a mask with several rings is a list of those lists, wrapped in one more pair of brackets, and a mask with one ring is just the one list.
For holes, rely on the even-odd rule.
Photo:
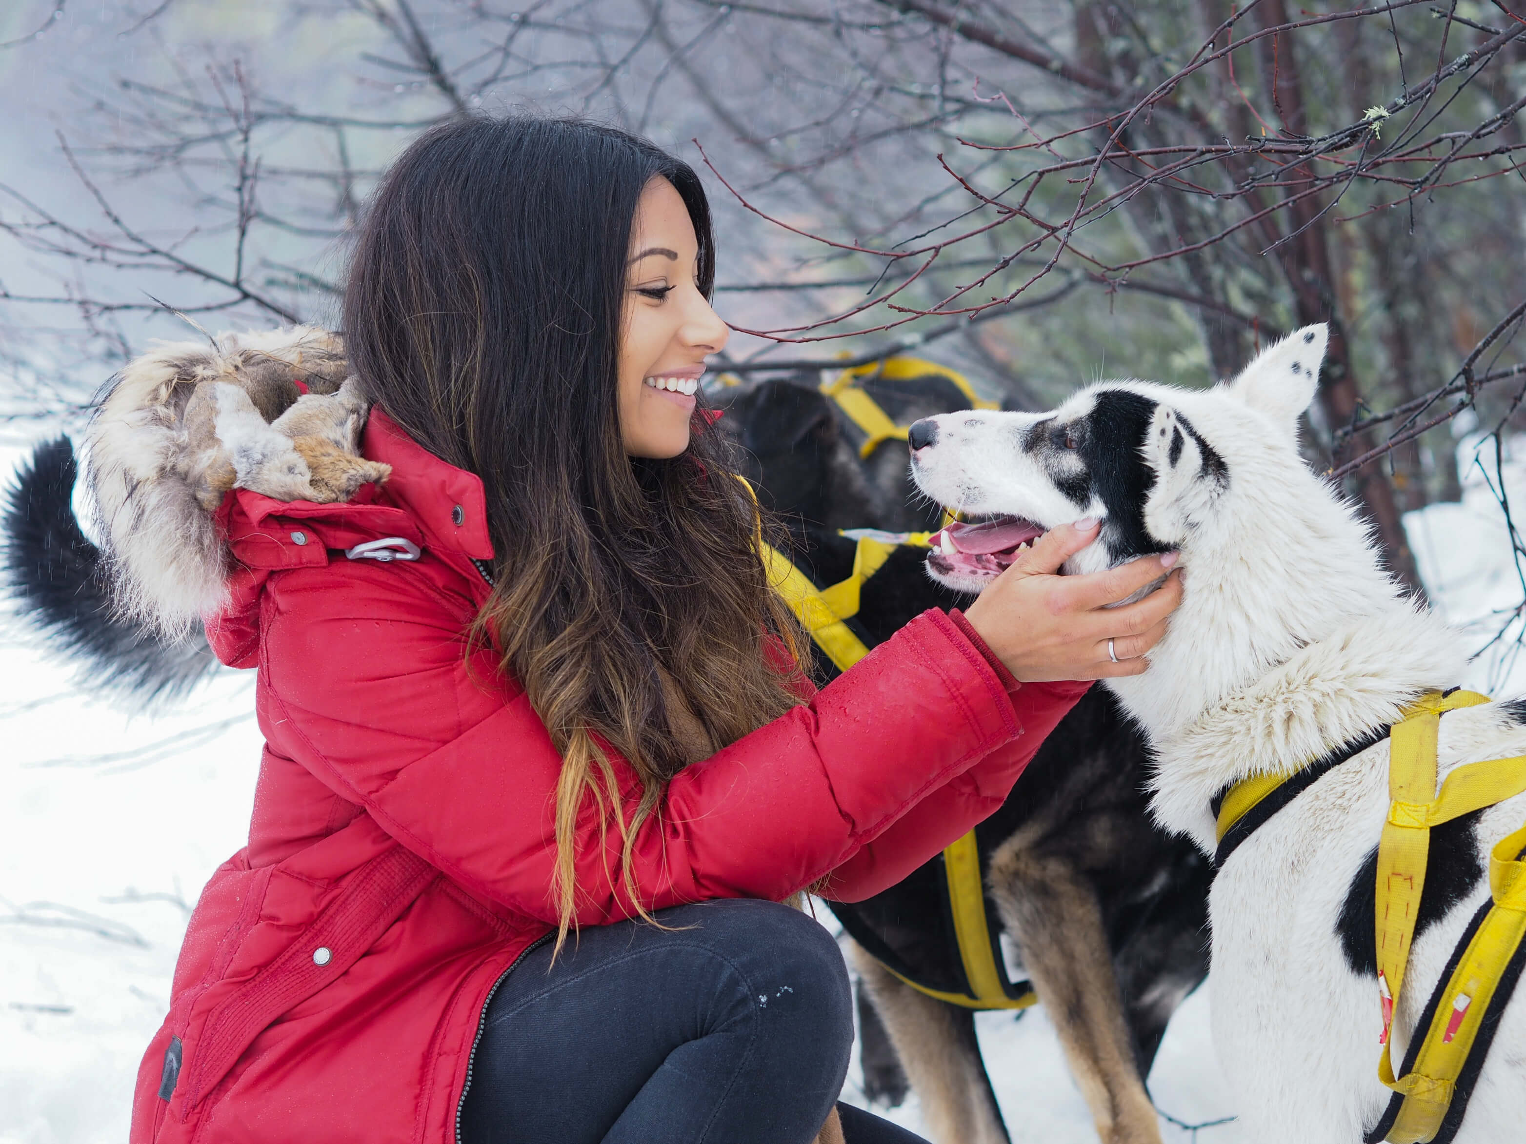
{"label": "thick cream fur ruff at base of white dog's neck", "polygon": [[1354,619],[1155,741],[1155,819],[1212,854],[1209,799],[1227,786],[1291,773],[1454,686],[1465,667],[1457,633],[1421,607]]}

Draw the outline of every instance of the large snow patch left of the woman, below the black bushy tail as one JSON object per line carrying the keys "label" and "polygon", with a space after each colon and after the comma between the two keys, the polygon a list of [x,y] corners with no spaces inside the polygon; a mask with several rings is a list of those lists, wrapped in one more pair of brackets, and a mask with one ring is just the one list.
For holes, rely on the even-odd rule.
{"label": "large snow patch left of the woman, below the black bushy tail", "polygon": [[252,680],[157,718],[9,642],[0,680],[0,1141],[119,1144],[189,905],[244,842]]}

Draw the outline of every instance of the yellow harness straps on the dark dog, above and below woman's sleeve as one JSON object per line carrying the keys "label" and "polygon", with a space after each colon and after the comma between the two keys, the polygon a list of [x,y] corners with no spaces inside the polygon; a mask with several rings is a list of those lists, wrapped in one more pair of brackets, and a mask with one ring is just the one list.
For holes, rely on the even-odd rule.
{"label": "yellow harness straps on the dark dog, above and below woman's sleeve", "polygon": [[[853,529],[844,532],[858,540],[853,554],[853,574],[830,587],[818,589],[810,578],[795,567],[778,549],[758,541],[769,583],[784,598],[800,622],[810,631],[827,659],[839,671],[847,671],[868,654],[868,647],[844,622],[858,615],[859,590],[902,545],[928,546],[929,532],[877,532]],[[980,850],[975,831],[969,831],[945,848],[943,874],[948,883],[948,906],[958,941],[960,964],[964,970],[967,993],[932,988],[914,981],[908,973],[881,962],[920,993],[964,1008],[1027,1008],[1038,1001],[1033,987],[1025,981],[1013,984],[1006,973],[995,935],[986,915],[986,888],[980,872]],[[861,943],[862,944],[862,943]],[[871,950],[873,952],[873,950]]]}

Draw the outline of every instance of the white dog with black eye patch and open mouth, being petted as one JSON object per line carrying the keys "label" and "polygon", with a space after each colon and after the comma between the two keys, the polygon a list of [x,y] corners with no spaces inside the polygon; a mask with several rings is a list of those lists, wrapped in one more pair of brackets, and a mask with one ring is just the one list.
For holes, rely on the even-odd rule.
{"label": "white dog with black eye patch and open mouth, being petted", "polygon": [[[995,519],[955,526],[928,558],[951,587],[978,590],[1015,545],[1085,516],[1103,528],[1067,570],[1180,549],[1181,609],[1149,671],[1109,686],[1155,749],[1155,816],[1209,854],[1210,799],[1225,787],[1291,772],[1462,682],[1457,635],[1404,598],[1354,509],[1299,456],[1325,342],[1325,326],[1300,329],[1209,390],[1109,381],[1051,413],[945,413],[911,435],[920,488]],[[1439,776],[1526,754],[1523,723],[1520,703],[1447,714]],[[1213,1039],[1254,1144],[1355,1144],[1389,1104],[1373,937],[1387,763],[1381,740],[1326,772],[1215,880]],[[1431,831],[1395,1063],[1488,898],[1489,848],[1523,822],[1517,796]],[[1471,1095],[1453,1100],[1444,1138],[1526,1139],[1526,990],[1505,1008]]]}

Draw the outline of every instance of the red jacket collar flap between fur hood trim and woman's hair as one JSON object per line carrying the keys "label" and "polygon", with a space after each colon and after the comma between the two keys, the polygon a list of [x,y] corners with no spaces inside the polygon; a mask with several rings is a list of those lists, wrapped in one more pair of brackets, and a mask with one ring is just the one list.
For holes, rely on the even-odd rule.
{"label": "red jacket collar flap between fur hood trim and woman's hair", "polygon": [[414,517],[426,548],[459,552],[472,560],[493,558],[482,477],[446,464],[375,407],[366,421],[362,453],[369,461],[392,465],[383,497]]}

